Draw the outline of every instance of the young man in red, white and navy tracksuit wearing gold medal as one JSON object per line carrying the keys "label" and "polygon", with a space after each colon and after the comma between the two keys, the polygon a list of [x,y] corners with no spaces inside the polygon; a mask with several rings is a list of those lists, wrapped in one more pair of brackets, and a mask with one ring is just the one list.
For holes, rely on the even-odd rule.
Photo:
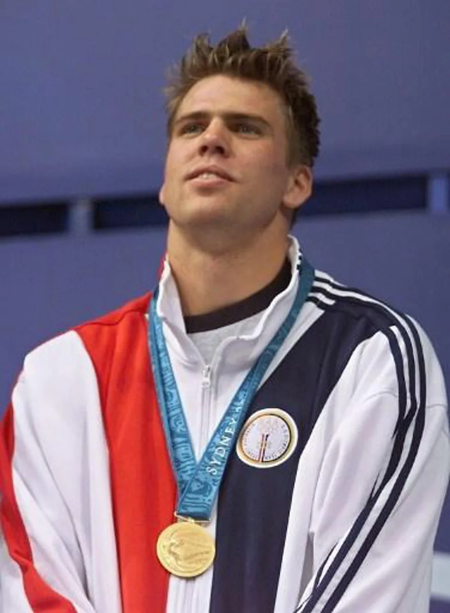
{"label": "young man in red, white and navy tracksuit wearing gold medal", "polygon": [[2,423],[6,613],[425,613],[449,474],[418,325],[289,237],[318,116],[286,38],[168,92],[158,287],[33,351]]}

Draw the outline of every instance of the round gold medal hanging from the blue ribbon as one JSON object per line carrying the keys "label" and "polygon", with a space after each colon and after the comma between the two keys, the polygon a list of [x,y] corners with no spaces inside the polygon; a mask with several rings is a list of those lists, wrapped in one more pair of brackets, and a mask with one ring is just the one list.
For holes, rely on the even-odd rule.
{"label": "round gold medal hanging from the blue ribbon", "polygon": [[196,577],[214,560],[216,547],[210,533],[193,519],[171,524],[156,543],[159,562],[178,577]]}

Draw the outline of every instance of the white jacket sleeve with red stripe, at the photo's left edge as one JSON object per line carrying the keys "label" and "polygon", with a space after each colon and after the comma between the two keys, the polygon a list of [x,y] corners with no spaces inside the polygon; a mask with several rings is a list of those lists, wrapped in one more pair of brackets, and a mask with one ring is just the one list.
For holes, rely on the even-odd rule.
{"label": "white jacket sleeve with red stripe, at the photo's left edge", "polygon": [[[66,409],[75,407],[74,398],[83,393],[82,386],[75,390],[67,385],[61,372],[77,370],[80,343],[53,344],[56,349],[67,346],[70,366],[63,365],[64,356],[55,362],[54,346],[39,348],[37,357],[28,356],[0,425],[2,613],[94,613],[76,529],[78,509],[69,500],[70,495],[80,499],[78,471],[86,449],[80,449],[82,439],[67,421]],[[64,393],[55,390],[58,381]]]}

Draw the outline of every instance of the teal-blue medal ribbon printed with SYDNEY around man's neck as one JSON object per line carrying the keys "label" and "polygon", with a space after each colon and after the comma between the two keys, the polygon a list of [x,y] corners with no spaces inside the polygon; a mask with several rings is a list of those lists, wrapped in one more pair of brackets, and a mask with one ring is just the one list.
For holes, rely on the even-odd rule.
{"label": "teal-blue medal ribbon printed with SYDNEY around man's neck", "polygon": [[310,292],[313,280],[314,268],[303,257],[300,264],[300,278],[296,297],[288,316],[262,351],[256,364],[248,371],[198,463],[181,405],[174,371],[170,364],[169,352],[162,331],[162,322],[158,313],[156,313],[158,288],[154,292],[150,302],[149,345],[162,424],[172,466],[177,476],[178,515],[196,520],[210,519],[228,457],[234,448],[248,406],[264,377],[265,371],[269,368],[273,357],[283,345],[294,325]]}

